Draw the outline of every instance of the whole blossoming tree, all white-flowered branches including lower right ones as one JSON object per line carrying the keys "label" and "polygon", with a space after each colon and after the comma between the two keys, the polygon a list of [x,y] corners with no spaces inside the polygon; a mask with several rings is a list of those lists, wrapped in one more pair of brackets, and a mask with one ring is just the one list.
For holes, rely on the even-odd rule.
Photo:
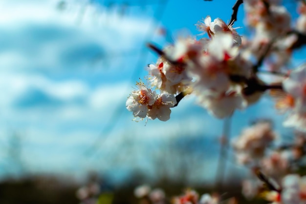
{"label": "whole blossoming tree, all white-flowered branches including lower right ones", "polygon": [[[241,37],[234,27],[242,3],[252,33],[248,37]],[[244,194],[255,196],[264,183],[263,197],[274,204],[306,203],[306,177],[298,171],[301,165],[294,164],[306,155],[306,64],[295,68],[288,63],[293,51],[306,44],[306,1],[298,2],[298,11],[292,22],[281,0],[237,0],[229,23],[210,16],[197,22],[197,29],[208,38],[180,38],[164,49],[149,44],[159,58],[148,66],[146,83],[137,82],[127,109],[140,120],[167,121],[171,109],[192,94],[213,117],[222,119],[268,92],[275,107],[287,114],[284,126],[295,128],[297,135],[290,145],[268,151],[278,138],[270,122],[260,121],[242,131],[233,143],[237,163],[257,176],[256,181],[244,181]],[[261,73],[279,80],[267,82]],[[174,200],[175,204],[219,202],[208,194],[199,199],[192,190]]]}

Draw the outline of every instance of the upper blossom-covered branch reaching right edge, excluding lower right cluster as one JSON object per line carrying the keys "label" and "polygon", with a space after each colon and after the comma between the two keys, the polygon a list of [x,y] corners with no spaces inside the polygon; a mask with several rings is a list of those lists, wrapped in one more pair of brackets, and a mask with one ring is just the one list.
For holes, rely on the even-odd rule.
{"label": "upper blossom-covered branch reaching right edge, excluding lower right cluster", "polygon": [[[283,97],[278,96],[276,106],[290,110],[284,124],[306,131],[306,65],[290,76],[283,74],[293,49],[304,43],[299,38],[306,30],[306,5],[299,4],[300,16],[293,30],[290,14],[280,0],[243,3],[247,25],[253,31],[250,39],[241,38],[233,27],[235,19],[226,24],[207,16],[196,25],[208,38],[179,38],[164,49],[150,45],[160,57],[148,65],[148,85],[137,83],[126,102],[134,117],[167,121],[170,108],[194,94],[210,114],[225,118],[258,102],[266,90],[278,90]],[[284,77],[275,85],[265,82],[261,72]]]}

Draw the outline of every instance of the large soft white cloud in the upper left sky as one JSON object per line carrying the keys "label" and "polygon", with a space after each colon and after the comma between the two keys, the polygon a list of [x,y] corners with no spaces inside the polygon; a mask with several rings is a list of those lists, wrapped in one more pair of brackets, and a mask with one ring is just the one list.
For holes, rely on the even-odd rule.
{"label": "large soft white cloud in the upper left sky", "polygon": [[0,2],[1,72],[84,71],[99,58],[136,50],[151,29],[148,17],[123,19],[82,1],[68,1],[66,10],[59,11],[58,2]]}

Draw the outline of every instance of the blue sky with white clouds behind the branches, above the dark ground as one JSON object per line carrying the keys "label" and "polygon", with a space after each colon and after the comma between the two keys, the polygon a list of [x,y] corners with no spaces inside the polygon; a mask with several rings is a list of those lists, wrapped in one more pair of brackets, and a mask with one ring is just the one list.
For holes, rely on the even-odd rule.
{"label": "blue sky with white clouds behind the branches, above the dark ground", "polygon": [[[152,0],[143,6],[125,1],[128,7],[122,2],[67,0],[61,10],[58,0],[0,1],[0,166],[9,169],[0,175],[18,172],[12,167],[16,163],[27,174],[78,178],[90,170],[146,169],[152,149],[158,150],[153,141],[203,135],[217,143],[222,121],[192,97],[173,109],[170,121],[146,126],[132,121],[125,101],[146,75],[146,65],[156,60],[145,43],[169,41],[159,28],[173,39],[197,35],[194,24],[207,15],[229,20],[235,0],[222,6],[202,0]],[[242,9],[235,26],[242,26],[241,15]],[[276,114],[265,97],[235,113],[231,135],[253,119]],[[282,117],[275,118],[281,130]],[[19,159],[10,153],[16,146],[12,141],[20,145]],[[205,163],[215,161],[209,157]]]}

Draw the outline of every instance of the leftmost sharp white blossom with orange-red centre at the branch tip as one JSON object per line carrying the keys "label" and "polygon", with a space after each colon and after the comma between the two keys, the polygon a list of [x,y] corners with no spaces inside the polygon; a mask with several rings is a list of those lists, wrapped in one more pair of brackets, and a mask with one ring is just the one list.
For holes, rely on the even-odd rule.
{"label": "leftmost sharp white blossom with orange-red centre at the branch tip", "polygon": [[149,111],[148,105],[153,105],[157,97],[156,92],[145,86],[143,82],[138,82],[138,90],[132,91],[126,107],[133,112],[134,117],[146,118]]}

